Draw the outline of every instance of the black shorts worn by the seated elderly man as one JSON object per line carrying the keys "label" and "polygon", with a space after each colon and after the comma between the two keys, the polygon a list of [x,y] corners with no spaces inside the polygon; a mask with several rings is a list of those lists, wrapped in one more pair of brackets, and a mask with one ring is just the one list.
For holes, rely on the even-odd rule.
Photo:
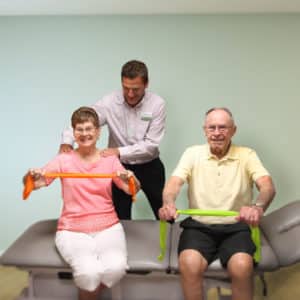
{"label": "black shorts worn by the seated elderly man", "polygon": [[223,267],[230,257],[238,252],[253,256],[256,247],[251,239],[251,231],[246,223],[206,225],[191,217],[181,222],[178,254],[186,249],[194,249],[210,264],[220,258]]}

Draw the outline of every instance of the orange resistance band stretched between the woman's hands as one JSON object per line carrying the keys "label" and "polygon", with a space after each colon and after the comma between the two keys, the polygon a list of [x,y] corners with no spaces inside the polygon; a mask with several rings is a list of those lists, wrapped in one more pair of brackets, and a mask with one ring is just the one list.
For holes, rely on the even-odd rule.
{"label": "orange resistance band stretched between the woman's hands", "polygon": [[[43,176],[50,178],[114,178],[116,173],[111,174],[82,174],[82,173],[46,173]],[[129,191],[132,196],[132,201],[136,200],[136,188],[133,176],[129,177],[128,181]],[[26,200],[34,189],[33,177],[28,174],[25,178],[25,185],[23,190],[23,200]]]}

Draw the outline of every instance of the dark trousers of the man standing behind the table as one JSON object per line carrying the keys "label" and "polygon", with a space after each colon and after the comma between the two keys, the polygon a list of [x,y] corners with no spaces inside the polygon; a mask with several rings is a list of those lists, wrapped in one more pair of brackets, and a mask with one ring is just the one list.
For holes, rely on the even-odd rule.
{"label": "dark trousers of the man standing behind the table", "polygon": [[[159,158],[150,162],[137,165],[123,164],[125,169],[134,172],[135,176],[141,183],[141,190],[145,193],[151,205],[156,219],[158,210],[162,206],[162,190],[165,184],[165,168]],[[113,184],[112,187],[113,202],[119,219],[131,219],[131,196],[124,193]]]}

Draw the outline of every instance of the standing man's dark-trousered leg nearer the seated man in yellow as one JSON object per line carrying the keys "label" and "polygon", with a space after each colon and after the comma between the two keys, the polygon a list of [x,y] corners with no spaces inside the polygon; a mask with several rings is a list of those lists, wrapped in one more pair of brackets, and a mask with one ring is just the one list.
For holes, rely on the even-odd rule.
{"label": "standing man's dark-trousered leg nearer the seated man in yellow", "polygon": [[137,169],[137,177],[141,189],[145,193],[155,218],[158,220],[158,210],[162,207],[162,191],[165,185],[165,167],[159,158],[145,163]]}

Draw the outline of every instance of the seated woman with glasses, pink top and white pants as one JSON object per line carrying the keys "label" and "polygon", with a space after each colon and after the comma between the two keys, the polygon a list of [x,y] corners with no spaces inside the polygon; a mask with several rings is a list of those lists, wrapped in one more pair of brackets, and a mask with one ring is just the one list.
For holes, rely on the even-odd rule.
{"label": "seated woman with glasses, pink top and white pants", "polygon": [[[127,249],[123,227],[112,202],[112,182],[130,194],[129,178],[118,157],[102,157],[96,147],[100,136],[97,113],[89,107],[77,109],[71,118],[78,147],[57,155],[42,169],[30,169],[34,189],[49,185],[46,172],[116,173],[113,178],[63,178],[63,208],[58,220],[55,244],[71,266],[79,299],[96,299],[104,287],[111,287],[125,274]],[[140,187],[135,178],[137,190]]]}

